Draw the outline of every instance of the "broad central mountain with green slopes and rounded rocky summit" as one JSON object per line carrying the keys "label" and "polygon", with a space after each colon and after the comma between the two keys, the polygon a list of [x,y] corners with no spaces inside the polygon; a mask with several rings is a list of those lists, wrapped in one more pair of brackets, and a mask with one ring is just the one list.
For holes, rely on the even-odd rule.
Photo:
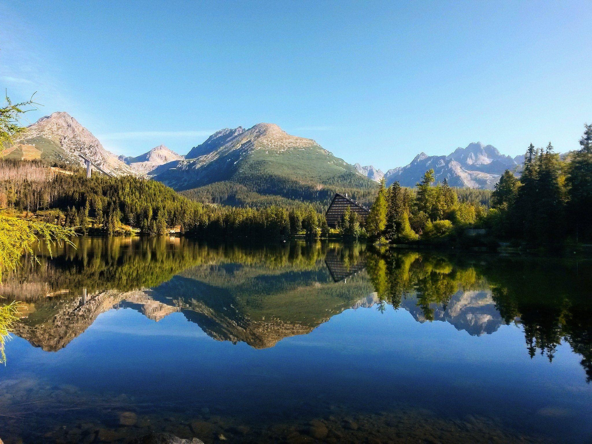
{"label": "broad central mountain with green slopes and rounded rocky summit", "polygon": [[218,131],[185,160],[153,173],[190,198],[231,205],[326,204],[335,192],[369,203],[376,189],[353,165],[316,141],[291,136],[269,123]]}

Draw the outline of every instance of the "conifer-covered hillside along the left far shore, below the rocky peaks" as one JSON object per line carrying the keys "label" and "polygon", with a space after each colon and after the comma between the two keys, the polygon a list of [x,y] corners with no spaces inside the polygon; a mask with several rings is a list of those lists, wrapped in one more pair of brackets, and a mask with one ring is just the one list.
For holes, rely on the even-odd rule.
{"label": "conifer-covered hillside along the left far shore, below the rocky peaks", "polygon": [[174,229],[197,237],[287,239],[302,232],[318,236],[326,227],[311,205],[291,210],[204,205],[150,179],[95,174],[86,179],[82,169],[14,160],[0,160],[0,204],[13,214],[81,233],[136,229],[165,234]]}

